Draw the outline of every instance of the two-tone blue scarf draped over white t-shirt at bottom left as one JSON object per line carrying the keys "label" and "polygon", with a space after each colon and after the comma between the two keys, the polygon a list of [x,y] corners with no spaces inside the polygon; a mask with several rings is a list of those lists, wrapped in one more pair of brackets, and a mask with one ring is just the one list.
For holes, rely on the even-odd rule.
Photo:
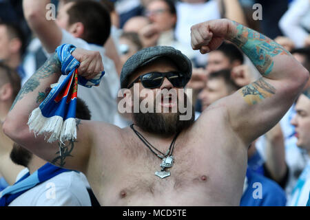
{"label": "two-tone blue scarf draped over white t-shirt at bottom left", "polygon": [[29,172],[26,173],[14,185],[8,186],[0,192],[0,206],[8,206],[14,199],[22,195],[23,192],[26,192],[34,186],[67,171],[70,170],[59,168],[58,166],[47,163],[32,173],[32,175],[30,175]]}

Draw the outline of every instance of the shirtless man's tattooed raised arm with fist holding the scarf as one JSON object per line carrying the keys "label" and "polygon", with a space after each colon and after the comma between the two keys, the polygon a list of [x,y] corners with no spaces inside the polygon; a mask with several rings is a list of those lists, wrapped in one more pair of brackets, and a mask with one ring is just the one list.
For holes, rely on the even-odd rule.
{"label": "shirtless man's tattooed raised arm with fist holding the scarf", "polygon": [[[103,71],[99,52],[90,52],[76,48],[72,52],[72,56],[81,63],[78,69],[79,75],[87,79],[94,78],[96,74]],[[19,91],[3,124],[3,131],[14,142],[28,148],[29,151],[41,158],[59,166],[65,165],[67,168],[85,172],[90,148],[92,148],[91,133],[94,127],[92,122],[82,120],[80,123],[77,123],[77,140],[76,142],[65,143],[65,146],[63,146],[65,151],[62,154],[58,152],[60,148],[57,142],[48,144],[44,135],[35,137],[34,133],[29,131],[27,125],[32,110],[39,107],[39,102],[42,100],[41,97],[45,91],[48,91],[50,85],[57,83],[60,76],[61,63],[56,54],[54,54],[32,75],[23,85],[21,91]]]}

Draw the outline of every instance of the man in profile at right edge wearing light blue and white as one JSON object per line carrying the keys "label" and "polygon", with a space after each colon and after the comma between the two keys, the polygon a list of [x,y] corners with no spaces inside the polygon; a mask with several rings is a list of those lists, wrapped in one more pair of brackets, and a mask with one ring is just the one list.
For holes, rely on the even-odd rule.
{"label": "man in profile at right edge wearing light blue and white", "polygon": [[310,190],[310,99],[304,94],[300,95],[295,106],[296,115],[291,124],[296,128],[297,145],[307,151],[307,166],[298,178],[296,186],[291,192],[288,206],[306,206]]}

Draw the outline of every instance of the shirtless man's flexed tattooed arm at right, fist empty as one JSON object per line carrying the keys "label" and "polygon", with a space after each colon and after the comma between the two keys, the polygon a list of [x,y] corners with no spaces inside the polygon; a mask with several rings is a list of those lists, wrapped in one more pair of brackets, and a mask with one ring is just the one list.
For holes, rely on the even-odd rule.
{"label": "shirtless man's flexed tattooed arm at right, fist empty", "polygon": [[282,118],[307,83],[309,72],[278,43],[234,21],[219,19],[192,27],[194,50],[205,54],[223,40],[239,47],[262,75],[217,102],[227,109],[229,123],[248,145]]}

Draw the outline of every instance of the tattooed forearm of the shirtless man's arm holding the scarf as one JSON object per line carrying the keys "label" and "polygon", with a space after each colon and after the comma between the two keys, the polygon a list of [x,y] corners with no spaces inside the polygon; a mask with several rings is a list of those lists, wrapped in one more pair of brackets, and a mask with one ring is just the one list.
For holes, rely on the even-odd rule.
{"label": "tattooed forearm of the shirtless man's arm holding the scarf", "polygon": [[40,80],[43,78],[47,78],[55,73],[61,72],[61,64],[56,56],[51,56],[48,61],[46,61],[40,69],[37,70],[30,78],[29,80],[23,85],[21,90],[19,91],[19,94],[15,98],[12,107],[10,110],[12,110],[15,106],[15,104],[21,100],[26,94],[30,93],[31,91],[34,91],[34,89],[37,89],[40,85]]}

